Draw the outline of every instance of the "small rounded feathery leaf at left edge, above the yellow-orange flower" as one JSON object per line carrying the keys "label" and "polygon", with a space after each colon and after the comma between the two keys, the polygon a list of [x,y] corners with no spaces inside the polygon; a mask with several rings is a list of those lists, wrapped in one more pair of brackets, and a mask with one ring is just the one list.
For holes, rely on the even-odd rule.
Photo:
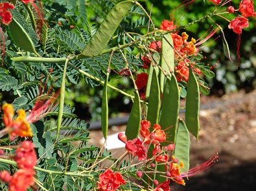
{"label": "small rounded feathery leaf at left edge, above the yellow-orange flower", "polygon": [[19,82],[15,77],[12,77],[10,75],[6,75],[0,79],[0,89],[3,91],[10,91],[17,90],[21,88],[21,85],[19,85]]}

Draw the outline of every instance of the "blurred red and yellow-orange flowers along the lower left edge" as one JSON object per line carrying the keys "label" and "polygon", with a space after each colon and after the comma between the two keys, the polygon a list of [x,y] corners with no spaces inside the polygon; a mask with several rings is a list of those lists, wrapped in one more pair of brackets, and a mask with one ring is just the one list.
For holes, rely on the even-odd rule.
{"label": "blurred red and yellow-orange flowers along the lower left edge", "polygon": [[[48,92],[49,93],[49,92]],[[0,137],[5,134],[10,134],[10,139],[14,137],[31,137],[32,130],[30,124],[40,120],[46,112],[50,112],[59,93],[52,94],[47,99],[37,99],[34,108],[28,116],[25,110],[17,111],[17,117],[14,116],[14,107],[11,104],[5,103],[3,109],[3,123],[5,128],[0,131]],[[5,152],[1,152],[4,156]],[[5,156],[4,156],[5,157]],[[30,141],[23,141],[17,146],[14,156],[17,168],[19,168],[12,176],[10,172],[3,170],[0,172],[0,180],[9,184],[10,191],[25,191],[34,184],[34,175],[36,174],[34,166],[36,166],[37,156],[34,150],[34,144]]]}

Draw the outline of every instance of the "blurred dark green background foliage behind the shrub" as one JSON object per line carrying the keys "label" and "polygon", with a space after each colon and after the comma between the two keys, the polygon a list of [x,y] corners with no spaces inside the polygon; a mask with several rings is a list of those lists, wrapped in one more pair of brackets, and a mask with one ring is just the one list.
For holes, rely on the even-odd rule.
{"label": "blurred dark green background foliage behind the shrub", "polygon": [[[91,35],[95,32],[97,26],[99,26],[104,17],[106,17],[106,14],[113,7],[115,1],[117,0],[41,0],[45,7],[45,19],[49,22],[49,28],[61,27],[63,31],[71,31],[79,28],[81,32]],[[177,26],[187,25],[200,17],[204,17],[204,15],[210,14],[216,8],[211,1],[207,0],[194,2],[189,0],[150,0],[139,1],[139,3],[146,8],[147,12],[151,12],[151,17],[156,27],[161,25],[163,19],[174,19],[174,23]],[[231,1],[231,5],[237,9],[239,7],[239,0]],[[226,10],[226,7],[227,5],[223,6],[221,9]],[[134,12],[136,14],[130,18],[131,23],[123,22],[121,23],[121,26],[126,31],[132,30],[138,34],[142,34],[143,32],[146,32],[145,26],[147,26],[148,19],[146,19],[140,9],[134,10]],[[234,15],[231,14],[225,14],[224,16],[229,20],[234,17]],[[215,66],[213,70],[216,77],[208,79],[209,86],[211,87],[211,94],[223,95],[240,89],[245,89],[246,91],[254,89],[256,86],[255,20],[250,21],[250,27],[242,32],[240,45],[241,59],[239,68],[237,69],[237,35],[234,34],[232,30],[229,30],[227,27],[229,23],[225,19],[217,16],[213,19],[218,25],[222,26],[224,30],[233,62],[229,61],[224,55],[224,47],[222,45],[220,32],[217,32],[214,37],[202,45],[203,47],[200,50],[202,51],[202,54],[205,55],[203,61],[209,66]],[[207,18],[200,21],[200,23],[194,23],[183,30],[189,34],[189,38],[194,37],[194,39],[199,39],[211,26],[216,28],[215,23]],[[117,43],[121,43],[121,40],[113,39],[113,43],[117,45]],[[137,54],[135,50],[129,48],[127,48],[127,51],[134,53],[134,55]],[[52,55],[53,54],[54,53],[52,53]],[[141,63],[137,61],[135,65],[139,66]],[[47,67],[51,68],[53,66]],[[110,84],[124,89],[126,92],[134,91],[134,86],[129,77],[121,77],[117,72],[118,71],[111,71]],[[102,76],[104,77],[104,75]],[[89,79],[79,81],[69,77],[67,81],[73,83],[73,85],[71,88],[67,89],[66,104],[75,106],[75,114],[81,119],[98,121],[101,112],[102,86]],[[89,81],[89,83],[86,83],[87,81]],[[108,90],[108,94],[110,95],[108,96],[110,97],[110,117],[115,117],[122,112],[130,112],[132,105],[130,99],[111,89]],[[12,96],[15,95],[12,95],[10,92],[2,92],[0,98],[2,101],[8,101]]]}

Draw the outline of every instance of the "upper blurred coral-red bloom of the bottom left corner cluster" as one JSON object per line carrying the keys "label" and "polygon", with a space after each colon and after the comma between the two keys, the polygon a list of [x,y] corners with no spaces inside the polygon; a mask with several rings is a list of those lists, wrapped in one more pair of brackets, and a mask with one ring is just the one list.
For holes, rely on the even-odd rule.
{"label": "upper blurred coral-red bloom of the bottom left corner cluster", "polygon": [[34,144],[30,141],[23,141],[15,151],[13,159],[16,161],[17,167],[32,170],[38,160],[34,151]]}

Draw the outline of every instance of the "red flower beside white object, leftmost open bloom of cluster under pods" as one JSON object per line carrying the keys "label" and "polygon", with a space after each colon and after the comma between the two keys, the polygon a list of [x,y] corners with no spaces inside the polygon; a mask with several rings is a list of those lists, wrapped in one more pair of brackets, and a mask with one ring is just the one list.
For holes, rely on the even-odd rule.
{"label": "red flower beside white object, leftmost open bloom of cluster under pods", "polygon": [[146,158],[146,147],[139,138],[129,140],[125,143],[125,149],[133,156],[137,156],[139,161]]}

